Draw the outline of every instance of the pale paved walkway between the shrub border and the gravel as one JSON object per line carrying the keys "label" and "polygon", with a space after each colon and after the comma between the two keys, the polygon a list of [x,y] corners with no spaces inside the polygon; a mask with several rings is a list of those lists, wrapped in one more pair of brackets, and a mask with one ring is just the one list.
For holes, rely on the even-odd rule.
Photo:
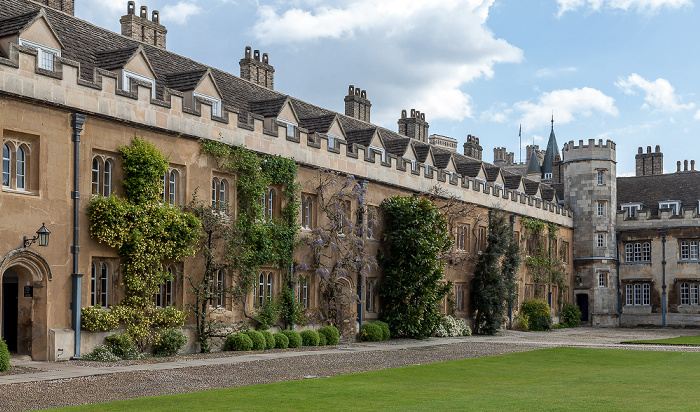
{"label": "pale paved walkway between the shrub border and the gravel", "polygon": [[662,339],[678,336],[697,335],[697,330],[683,329],[598,329],[598,328],[573,328],[551,332],[532,333],[518,331],[503,331],[498,336],[468,336],[460,338],[430,338],[422,341],[406,340],[388,341],[378,343],[356,343],[341,345],[324,350],[297,350],[288,352],[256,352],[240,356],[223,356],[207,359],[188,359],[173,362],[146,363],[129,366],[76,366],[62,362],[35,362],[31,360],[13,358],[13,366],[26,368],[45,369],[46,371],[0,376],[0,385],[26,382],[43,382],[63,379],[80,378],[87,376],[109,375],[124,372],[137,371],[163,371],[182,368],[192,368],[212,365],[235,365],[260,360],[274,360],[284,358],[296,358],[301,356],[361,353],[378,351],[395,351],[401,349],[419,349],[436,347],[458,343],[503,343],[547,347],[596,347],[611,349],[639,349],[639,350],[672,350],[700,352],[700,347],[678,347],[665,345],[629,345],[621,344],[622,341],[638,339]]}

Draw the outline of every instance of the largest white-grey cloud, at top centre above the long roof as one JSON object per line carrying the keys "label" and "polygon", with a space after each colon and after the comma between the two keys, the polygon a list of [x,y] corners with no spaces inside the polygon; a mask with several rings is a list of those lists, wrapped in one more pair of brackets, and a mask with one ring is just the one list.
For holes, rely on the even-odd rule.
{"label": "largest white-grey cloud, at top centre above the long roof", "polygon": [[253,33],[263,45],[308,51],[314,65],[332,65],[335,78],[327,81],[347,78],[367,89],[373,122],[393,129],[402,109],[420,110],[428,121],[472,117],[461,88],[493,76],[497,63],[522,60],[520,49],[486,26],[493,2],[296,0],[259,7]]}

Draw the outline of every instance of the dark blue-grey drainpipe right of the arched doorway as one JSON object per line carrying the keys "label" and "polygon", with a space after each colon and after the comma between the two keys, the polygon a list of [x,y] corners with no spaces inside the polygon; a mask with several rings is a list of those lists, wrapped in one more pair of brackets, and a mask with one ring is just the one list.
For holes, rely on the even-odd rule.
{"label": "dark blue-grey drainpipe right of the arched doorway", "polygon": [[82,278],[79,273],[80,265],[78,255],[80,253],[80,132],[83,131],[85,124],[85,115],[82,113],[73,113],[73,191],[71,198],[73,199],[73,245],[71,253],[73,254],[73,274],[72,274],[72,289],[73,301],[71,302],[72,310],[72,327],[75,332],[75,354],[71,359],[80,359],[80,308],[82,296]]}

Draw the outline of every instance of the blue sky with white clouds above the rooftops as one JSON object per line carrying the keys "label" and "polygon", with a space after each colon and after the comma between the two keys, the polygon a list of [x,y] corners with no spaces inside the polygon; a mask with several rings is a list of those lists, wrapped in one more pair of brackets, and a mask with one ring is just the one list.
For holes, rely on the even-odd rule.
{"label": "blue sky with white clouds above the rooftops", "polygon": [[[700,160],[700,11],[694,0],[148,0],[168,50],[238,75],[246,46],[268,53],[275,90],[344,112],[367,90],[371,120],[401,110],[430,134],[506,147],[610,139],[618,176],[638,147],[664,169]],[[119,32],[126,0],[76,0],[76,16]],[[522,139],[518,133],[522,127]],[[519,142],[522,140],[522,149]]]}

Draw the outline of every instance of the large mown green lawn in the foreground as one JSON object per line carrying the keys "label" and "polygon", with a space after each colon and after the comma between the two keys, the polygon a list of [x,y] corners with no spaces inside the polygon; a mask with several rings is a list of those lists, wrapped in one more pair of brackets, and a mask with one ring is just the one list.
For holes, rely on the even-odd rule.
{"label": "large mown green lawn in the foreground", "polygon": [[700,353],[555,348],[65,410],[698,410],[699,381]]}

